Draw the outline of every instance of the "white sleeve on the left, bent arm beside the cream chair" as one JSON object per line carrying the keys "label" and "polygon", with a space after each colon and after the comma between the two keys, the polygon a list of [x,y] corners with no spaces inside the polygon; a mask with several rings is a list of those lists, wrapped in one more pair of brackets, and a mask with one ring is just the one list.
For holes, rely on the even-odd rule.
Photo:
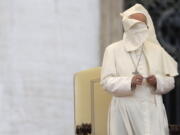
{"label": "white sleeve on the left, bent arm beside the cream chair", "polygon": [[100,84],[114,96],[131,95],[132,76],[118,76],[116,72],[113,50],[106,48],[104,52]]}

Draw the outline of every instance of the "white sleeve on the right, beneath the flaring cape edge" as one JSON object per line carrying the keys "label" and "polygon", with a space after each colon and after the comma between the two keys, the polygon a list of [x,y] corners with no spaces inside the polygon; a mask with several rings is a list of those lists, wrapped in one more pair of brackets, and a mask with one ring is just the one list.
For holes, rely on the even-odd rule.
{"label": "white sleeve on the right, beneath the flaring cape edge", "polygon": [[155,89],[156,94],[166,94],[173,90],[175,87],[175,79],[170,76],[155,75],[157,80],[157,85]]}

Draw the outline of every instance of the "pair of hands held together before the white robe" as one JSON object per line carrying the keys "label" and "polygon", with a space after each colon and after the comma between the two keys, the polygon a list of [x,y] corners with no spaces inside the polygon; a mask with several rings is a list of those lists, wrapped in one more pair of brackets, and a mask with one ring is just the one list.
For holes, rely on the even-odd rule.
{"label": "pair of hands held together before the white robe", "polygon": [[[144,77],[142,75],[134,75],[131,81],[132,88],[135,88],[137,85],[142,85]],[[155,75],[150,75],[147,78],[145,78],[147,83],[150,84],[153,87],[156,87],[157,80]]]}

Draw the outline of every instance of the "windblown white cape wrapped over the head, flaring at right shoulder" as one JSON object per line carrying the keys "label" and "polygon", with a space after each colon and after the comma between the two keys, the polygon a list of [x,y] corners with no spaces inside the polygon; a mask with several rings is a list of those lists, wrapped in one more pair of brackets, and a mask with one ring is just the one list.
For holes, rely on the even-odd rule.
{"label": "windblown white cape wrapped over the head, flaring at right shoulder", "polygon": [[[142,13],[146,16],[147,19],[147,26],[148,26],[148,34],[146,30],[142,31],[142,33],[140,34],[140,36],[137,38],[137,40],[139,39],[139,45],[137,44],[138,42],[136,42],[135,40],[133,40],[133,37],[136,36],[136,34],[134,34],[133,32],[136,31],[137,28],[133,28],[132,30],[130,30],[131,27],[134,27],[134,25],[140,25],[140,21],[139,20],[135,20],[135,19],[131,19],[129,16],[135,13]],[[169,75],[169,76],[177,76],[178,72],[177,72],[177,62],[161,47],[161,45],[159,44],[157,38],[156,38],[156,34],[155,34],[155,30],[154,30],[154,25],[152,22],[152,19],[148,13],[148,11],[141,5],[141,4],[135,4],[133,7],[127,9],[126,11],[124,11],[123,13],[120,13],[120,15],[122,16],[122,22],[123,22],[123,27],[124,27],[124,34],[123,34],[123,44],[126,44],[125,49],[127,51],[134,51],[135,49],[137,49],[138,47],[135,46],[141,46],[143,41],[144,45],[145,45],[145,51],[147,54],[147,60],[149,63],[149,70],[150,72],[154,69],[152,69],[153,67],[155,67],[156,65],[154,64],[154,58],[158,58],[159,53],[161,54],[161,59],[158,59],[160,61],[163,61],[163,66],[156,66],[156,70],[161,71],[162,74],[165,75]],[[141,22],[142,23],[142,22]],[[139,27],[138,29],[143,29],[143,26],[140,25],[141,27]],[[144,34],[144,36],[143,36]],[[146,37],[148,36],[148,37]],[[146,40],[144,40],[146,39]],[[156,50],[156,52],[154,52],[154,50]],[[153,55],[152,55],[153,52]],[[149,55],[148,55],[149,54]],[[159,62],[160,62],[159,61]],[[158,62],[158,61],[157,61]]]}

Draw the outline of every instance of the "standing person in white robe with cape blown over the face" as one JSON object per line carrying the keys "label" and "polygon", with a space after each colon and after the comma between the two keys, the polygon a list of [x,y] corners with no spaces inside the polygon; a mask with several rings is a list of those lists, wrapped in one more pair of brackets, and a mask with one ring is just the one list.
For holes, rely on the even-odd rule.
{"label": "standing person in white robe with cape blown over the face", "polygon": [[120,15],[123,39],[106,47],[101,70],[100,84],[113,95],[108,135],[169,135],[162,94],[175,87],[177,62],[159,44],[141,4]]}

